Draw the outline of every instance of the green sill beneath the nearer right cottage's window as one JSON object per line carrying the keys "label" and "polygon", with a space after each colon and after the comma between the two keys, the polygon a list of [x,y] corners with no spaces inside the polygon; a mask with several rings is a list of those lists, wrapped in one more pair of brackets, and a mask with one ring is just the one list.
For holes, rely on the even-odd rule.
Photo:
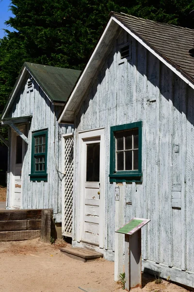
{"label": "green sill beneath the nearer right cottage's window", "polygon": [[110,183],[132,183],[132,182],[142,182],[142,173],[139,172],[122,172],[109,174]]}

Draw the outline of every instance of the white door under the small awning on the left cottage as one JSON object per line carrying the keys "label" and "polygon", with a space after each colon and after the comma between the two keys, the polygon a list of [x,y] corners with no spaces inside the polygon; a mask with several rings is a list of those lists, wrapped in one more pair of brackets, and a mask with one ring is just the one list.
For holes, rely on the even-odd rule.
{"label": "white door under the small awning on the left cottage", "polygon": [[[20,130],[23,132],[23,128]],[[13,208],[21,208],[24,143],[23,139],[12,131],[11,207]]]}

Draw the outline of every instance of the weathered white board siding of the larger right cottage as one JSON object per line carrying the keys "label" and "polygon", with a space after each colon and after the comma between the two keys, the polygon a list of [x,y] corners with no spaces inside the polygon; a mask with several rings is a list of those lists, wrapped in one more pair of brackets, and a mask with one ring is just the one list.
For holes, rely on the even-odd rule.
{"label": "weathered white board siding of the larger right cottage", "polygon": [[[142,230],[142,258],[149,262],[147,267],[160,263],[194,272],[194,91],[135,39],[131,60],[118,65],[119,44],[128,38],[122,31],[110,55],[102,60],[75,120],[73,239],[79,233],[78,132],[105,128],[104,237],[105,249],[114,251],[110,127],[143,121],[143,183],[124,183],[125,201],[132,202],[125,205],[124,221],[151,219]],[[162,267],[159,270],[164,271]],[[193,283],[188,275],[186,279],[173,271],[168,272],[172,280]]]}

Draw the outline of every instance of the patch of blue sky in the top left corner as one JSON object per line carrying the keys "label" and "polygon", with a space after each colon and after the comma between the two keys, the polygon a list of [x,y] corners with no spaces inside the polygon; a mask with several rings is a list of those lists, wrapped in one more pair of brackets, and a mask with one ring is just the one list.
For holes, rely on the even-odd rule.
{"label": "patch of blue sky in the top left corner", "polygon": [[4,22],[12,16],[11,11],[9,10],[10,0],[0,0],[0,38],[4,37],[5,33],[2,30],[3,28],[13,31],[10,27],[7,27]]}

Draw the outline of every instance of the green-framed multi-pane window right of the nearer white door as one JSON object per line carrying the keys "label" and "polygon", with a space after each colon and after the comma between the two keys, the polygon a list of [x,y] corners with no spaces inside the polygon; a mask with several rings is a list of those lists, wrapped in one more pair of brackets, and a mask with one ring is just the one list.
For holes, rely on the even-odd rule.
{"label": "green-framed multi-pane window right of the nearer white door", "polygon": [[111,127],[110,182],[141,182],[142,122]]}

